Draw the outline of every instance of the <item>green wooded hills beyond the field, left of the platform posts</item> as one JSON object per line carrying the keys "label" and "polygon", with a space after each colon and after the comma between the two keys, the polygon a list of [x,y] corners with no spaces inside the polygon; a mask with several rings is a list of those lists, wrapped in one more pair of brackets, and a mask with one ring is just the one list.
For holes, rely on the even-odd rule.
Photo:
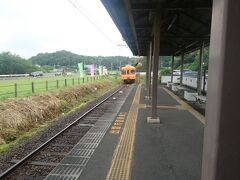
{"label": "green wooded hills beyond the field, left of the platform posts", "polygon": [[29,59],[24,59],[11,52],[0,53],[0,74],[25,74],[34,71],[50,72],[54,68],[77,70],[78,63],[106,66],[116,70],[126,64],[134,64],[134,58],[124,56],[83,56],[68,51],[54,53],[39,53]]}

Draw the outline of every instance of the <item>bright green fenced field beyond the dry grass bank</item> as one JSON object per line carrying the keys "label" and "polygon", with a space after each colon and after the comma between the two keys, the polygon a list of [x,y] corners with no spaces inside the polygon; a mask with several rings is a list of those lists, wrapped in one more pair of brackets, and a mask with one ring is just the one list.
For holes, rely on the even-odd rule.
{"label": "bright green fenced field beyond the dry grass bank", "polygon": [[57,76],[0,80],[0,100],[78,86],[99,79],[101,79],[99,76],[95,76],[94,78],[89,76],[85,76],[84,78],[79,78],[78,76]]}

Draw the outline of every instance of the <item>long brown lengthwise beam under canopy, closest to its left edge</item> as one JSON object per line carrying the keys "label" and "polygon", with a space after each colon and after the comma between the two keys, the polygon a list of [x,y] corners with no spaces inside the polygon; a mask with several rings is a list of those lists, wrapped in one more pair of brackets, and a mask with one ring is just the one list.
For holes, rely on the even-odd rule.
{"label": "long brown lengthwise beam under canopy, closest to its left edge", "polygon": [[140,50],[139,50],[138,41],[137,41],[137,32],[136,32],[136,29],[135,29],[135,23],[134,23],[134,19],[133,19],[130,0],[124,0],[124,5],[125,5],[125,8],[127,10],[128,19],[129,19],[130,26],[131,26],[131,29],[132,29],[133,37],[135,39],[135,44],[136,44],[136,47],[137,47],[138,55],[140,55]]}

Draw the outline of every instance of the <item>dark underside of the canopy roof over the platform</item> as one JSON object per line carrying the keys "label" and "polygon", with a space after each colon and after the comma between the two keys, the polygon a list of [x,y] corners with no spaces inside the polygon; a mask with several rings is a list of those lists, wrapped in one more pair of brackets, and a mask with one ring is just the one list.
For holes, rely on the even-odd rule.
{"label": "dark underside of the canopy roof over the platform", "polygon": [[212,0],[101,0],[133,55],[145,56],[160,14],[160,55],[209,44]]}

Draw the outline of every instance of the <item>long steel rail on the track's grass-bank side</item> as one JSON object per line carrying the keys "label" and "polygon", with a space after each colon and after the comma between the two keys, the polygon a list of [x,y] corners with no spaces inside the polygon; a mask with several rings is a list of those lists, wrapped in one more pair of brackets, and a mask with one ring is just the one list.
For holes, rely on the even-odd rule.
{"label": "long steel rail on the track's grass-bank side", "polygon": [[107,96],[105,99],[103,99],[101,102],[99,102],[98,104],[96,104],[94,107],[92,107],[90,110],[88,110],[87,112],[85,112],[83,115],[81,115],[80,117],[78,117],[76,120],[74,120],[71,124],[69,124],[67,127],[65,127],[64,129],[62,129],[60,132],[58,132],[57,134],[55,134],[53,137],[51,137],[49,140],[47,140],[45,143],[43,143],[41,146],[39,146],[37,149],[33,150],[32,152],[30,152],[27,156],[25,156],[24,158],[22,158],[20,161],[18,161],[16,164],[14,164],[13,166],[11,166],[10,168],[8,168],[6,171],[4,171],[1,175],[0,175],[0,179],[6,177],[7,175],[9,175],[11,172],[13,172],[17,167],[19,167],[20,165],[24,164],[27,160],[31,159],[35,154],[37,154],[40,150],[42,150],[44,147],[46,147],[49,143],[51,143],[54,139],[56,139],[58,136],[60,136],[63,132],[65,132],[66,130],[68,130],[70,127],[72,127],[74,124],[76,124],[79,120],[81,120],[83,117],[85,117],[87,114],[89,114],[91,111],[93,111],[95,108],[97,108],[98,106],[100,106],[102,103],[104,103],[105,101],[107,101],[110,97],[112,97],[114,94],[116,94],[119,90],[121,90],[123,88],[123,85],[121,85],[117,90],[115,90],[112,94],[110,94],[109,96]]}

